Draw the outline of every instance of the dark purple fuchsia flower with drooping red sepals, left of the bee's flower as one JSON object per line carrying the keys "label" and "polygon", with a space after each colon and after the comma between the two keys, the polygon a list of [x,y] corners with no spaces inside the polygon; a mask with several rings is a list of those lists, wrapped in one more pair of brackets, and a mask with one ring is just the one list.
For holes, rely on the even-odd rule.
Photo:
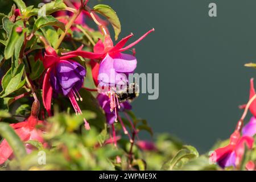
{"label": "dark purple fuchsia flower with drooping red sepals, left of the bee's flower", "polygon": [[[59,57],[55,50],[46,46],[43,64],[47,69],[43,81],[43,105],[51,115],[51,99],[53,90],[67,96],[77,114],[82,111],[77,101],[82,101],[79,90],[84,83],[86,70],[79,63],[69,60],[73,56]],[[89,123],[84,118],[85,129],[89,130]]]}

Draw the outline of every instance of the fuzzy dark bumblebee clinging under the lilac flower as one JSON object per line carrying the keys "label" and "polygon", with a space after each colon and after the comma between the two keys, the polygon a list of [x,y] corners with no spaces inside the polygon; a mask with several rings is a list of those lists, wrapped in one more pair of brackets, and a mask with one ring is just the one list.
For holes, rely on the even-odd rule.
{"label": "fuzzy dark bumblebee clinging under the lilac flower", "polygon": [[115,91],[119,103],[132,101],[139,96],[138,85],[135,83],[127,84],[126,89]]}

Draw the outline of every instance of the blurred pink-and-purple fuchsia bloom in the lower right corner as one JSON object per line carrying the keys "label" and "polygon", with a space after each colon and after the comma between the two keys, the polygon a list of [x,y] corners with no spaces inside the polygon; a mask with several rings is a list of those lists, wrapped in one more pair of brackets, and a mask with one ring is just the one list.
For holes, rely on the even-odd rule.
{"label": "blurred pink-and-purple fuchsia bloom in the lower right corner", "polygon": [[241,136],[238,130],[230,136],[228,146],[218,148],[210,156],[213,162],[217,162],[222,168],[229,166],[238,166],[240,164],[243,154],[245,152],[245,144],[251,149],[253,147],[254,139],[249,136]]}

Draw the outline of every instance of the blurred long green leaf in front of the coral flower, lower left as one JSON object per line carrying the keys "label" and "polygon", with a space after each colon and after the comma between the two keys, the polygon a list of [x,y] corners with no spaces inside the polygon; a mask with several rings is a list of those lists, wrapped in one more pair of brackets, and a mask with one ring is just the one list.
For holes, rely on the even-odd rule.
{"label": "blurred long green leaf in front of the coral flower, lower left", "polygon": [[7,140],[11,149],[13,149],[14,151],[14,155],[18,160],[21,160],[27,154],[26,149],[19,136],[7,123],[0,123],[0,134],[3,138]]}

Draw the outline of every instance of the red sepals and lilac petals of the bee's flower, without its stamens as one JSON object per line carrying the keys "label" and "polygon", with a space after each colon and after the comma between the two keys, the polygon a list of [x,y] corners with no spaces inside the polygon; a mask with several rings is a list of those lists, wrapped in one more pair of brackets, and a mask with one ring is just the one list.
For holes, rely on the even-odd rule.
{"label": "red sepals and lilac petals of the bee's flower, without its stamens", "polygon": [[[115,73],[115,77],[112,80],[108,79],[108,81],[106,82],[97,76],[97,79],[98,79],[97,81],[99,83],[102,82],[103,84],[108,86],[115,85],[121,81],[121,78],[123,78],[122,75],[120,75],[121,78],[118,76],[120,73],[124,73],[124,74],[133,73],[134,69],[137,67],[137,59],[133,55],[128,55],[122,52],[127,51],[128,49],[134,47],[137,43],[139,43],[152,31],[154,31],[154,28],[148,31],[146,34],[144,34],[137,41],[129,44],[126,47],[125,47],[126,42],[131,38],[131,36],[133,36],[133,34],[130,34],[126,38],[123,38],[115,46],[113,46],[113,42],[110,36],[106,35],[104,42],[99,40],[97,44],[94,46],[94,52],[86,52],[80,49],[77,51],[63,53],[63,55],[77,55],[77,56],[86,57],[88,59],[100,59],[101,62],[100,62],[100,65],[98,66],[98,70],[94,69],[93,74],[94,72],[96,72],[99,75],[104,74],[108,76],[108,78],[112,78],[110,76],[110,71],[113,70]],[[96,76],[94,76],[94,79],[95,78]],[[94,82],[97,82],[97,81],[94,80]],[[126,82],[126,80],[122,80],[122,81]]]}

